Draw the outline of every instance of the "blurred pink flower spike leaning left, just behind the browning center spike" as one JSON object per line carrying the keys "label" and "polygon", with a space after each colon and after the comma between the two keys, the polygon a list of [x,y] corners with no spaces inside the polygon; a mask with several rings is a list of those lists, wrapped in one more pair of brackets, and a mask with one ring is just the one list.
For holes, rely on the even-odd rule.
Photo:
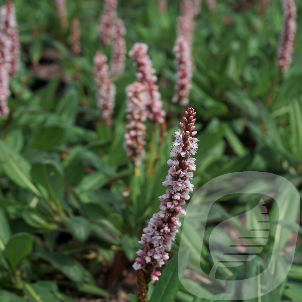
{"label": "blurred pink flower spike leaning left, just behind the browning center spike", "polygon": [[139,82],[146,85],[148,90],[148,117],[154,123],[163,123],[166,114],[163,110],[158,86],[155,85],[157,81],[157,77],[154,75],[155,70],[152,68],[152,63],[147,52],[148,46],[146,44],[135,43],[129,55],[135,59],[135,66],[138,69],[136,78]]}

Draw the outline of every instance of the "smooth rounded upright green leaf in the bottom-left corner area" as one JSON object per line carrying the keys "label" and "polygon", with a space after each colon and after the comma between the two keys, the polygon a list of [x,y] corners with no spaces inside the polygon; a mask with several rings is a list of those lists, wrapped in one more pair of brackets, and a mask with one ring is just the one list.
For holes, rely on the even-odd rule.
{"label": "smooth rounded upright green leaf in the bottom-left corner area", "polygon": [[33,249],[34,237],[27,233],[18,233],[11,236],[3,255],[11,265],[13,271],[16,271],[20,262],[29,255]]}

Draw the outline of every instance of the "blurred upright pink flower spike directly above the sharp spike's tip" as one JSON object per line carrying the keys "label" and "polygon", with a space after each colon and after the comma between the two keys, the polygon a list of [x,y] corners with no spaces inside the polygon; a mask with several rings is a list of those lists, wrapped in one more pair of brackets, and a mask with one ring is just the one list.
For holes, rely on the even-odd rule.
{"label": "blurred upright pink flower spike directly above the sharp spike's tip", "polygon": [[191,90],[192,60],[190,46],[183,36],[178,37],[176,40],[174,53],[177,60],[177,74],[176,94],[172,101],[185,106],[189,103],[188,95]]}

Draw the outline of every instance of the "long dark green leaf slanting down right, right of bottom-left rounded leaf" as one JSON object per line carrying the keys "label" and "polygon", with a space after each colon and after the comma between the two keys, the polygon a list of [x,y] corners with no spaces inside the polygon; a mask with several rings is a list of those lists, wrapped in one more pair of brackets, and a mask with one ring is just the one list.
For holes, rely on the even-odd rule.
{"label": "long dark green leaf slanting down right, right of bottom-left rounded leaf", "polygon": [[62,255],[59,253],[37,253],[39,258],[50,262],[57,270],[61,271],[70,280],[76,283],[83,283],[85,279],[86,269],[77,260],[70,256]]}

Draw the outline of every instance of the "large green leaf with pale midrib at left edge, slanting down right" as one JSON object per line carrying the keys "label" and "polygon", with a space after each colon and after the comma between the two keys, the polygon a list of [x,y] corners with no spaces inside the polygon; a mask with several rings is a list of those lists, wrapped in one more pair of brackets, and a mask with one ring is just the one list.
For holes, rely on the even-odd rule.
{"label": "large green leaf with pale midrib at left edge, slanting down right", "polygon": [[21,188],[30,189],[37,196],[41,196],[39,190],[31,182],[31,165],[2,140],[0,140],[0,168]]}

